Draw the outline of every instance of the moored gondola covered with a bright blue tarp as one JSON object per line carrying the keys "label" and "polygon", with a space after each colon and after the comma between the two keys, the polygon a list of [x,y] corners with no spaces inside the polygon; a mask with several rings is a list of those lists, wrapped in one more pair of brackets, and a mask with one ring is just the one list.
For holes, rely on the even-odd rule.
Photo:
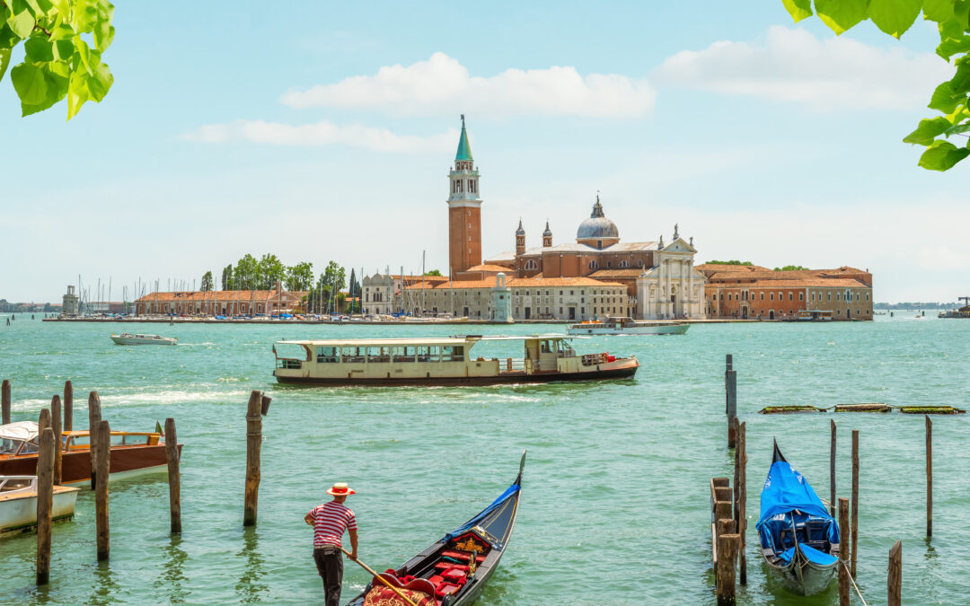
{"label": "moored gondola covered with a bright blue tarp", "polygon": [[813,595],[828,587],[838,566],[839,526],[777,443],[756,527],[768,571],[786,590]]}

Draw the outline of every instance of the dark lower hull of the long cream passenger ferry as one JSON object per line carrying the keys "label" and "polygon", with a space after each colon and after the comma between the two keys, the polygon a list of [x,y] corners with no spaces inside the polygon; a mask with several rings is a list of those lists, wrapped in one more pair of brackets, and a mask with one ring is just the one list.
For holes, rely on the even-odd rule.
{"label": "dark lower hull of the long cream passenger ferry", "polygon": [[554,383],[560,381],[601,381],[627,379],[636,374],[639,365],[600,368],[586,372],[502,372],[495,376],[439,376],[439,377],[315,377],[276,375],[276,381],[288,385],[307,386],[476,386],[523,383]]}

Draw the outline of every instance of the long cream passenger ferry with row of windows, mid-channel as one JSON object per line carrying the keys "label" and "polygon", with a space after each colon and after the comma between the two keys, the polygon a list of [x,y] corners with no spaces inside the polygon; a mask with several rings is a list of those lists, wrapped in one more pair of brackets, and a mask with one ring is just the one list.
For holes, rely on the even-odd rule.
{"label": "long cream passenger ferry with row of windows, mid-channel", "polygon": [[[632,356],[579,355],[569,345],[571,338],[456,335],[276,341],[274,375],[279,383],[305,385],[494,385],[627,378],[640,367]],[[523,357],[474,357],[471,349],[479,343],[521,343]]]}

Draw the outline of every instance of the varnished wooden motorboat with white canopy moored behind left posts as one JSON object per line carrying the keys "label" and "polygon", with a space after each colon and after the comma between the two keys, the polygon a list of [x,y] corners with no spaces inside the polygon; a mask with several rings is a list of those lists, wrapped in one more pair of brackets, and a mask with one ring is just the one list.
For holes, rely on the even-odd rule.
{"label": "varnished wooden motorboat with white canopy moored behind left posts", "polygon": [[[20,421],[0,426],[0,475],[37,473],[38,426]],[[91,478],[90,436],[87,431],[61,434],[61,482],[79,484]],[[178,450],[181,452],[181,444]],[[165,442],[156,431],[112,431],[111,476],[116,480],[168,470]]]}

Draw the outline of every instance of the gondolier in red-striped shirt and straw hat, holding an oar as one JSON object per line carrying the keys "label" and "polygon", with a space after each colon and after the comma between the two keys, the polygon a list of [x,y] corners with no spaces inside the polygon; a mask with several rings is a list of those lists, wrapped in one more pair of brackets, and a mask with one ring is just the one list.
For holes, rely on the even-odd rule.
{"label": "gondolier in red-striped shirt and straw hat, holding an oar", "polygon": [[350,558],[357,559],[357,517],[343,504],[354,491],[343,482],[338,482],[327,494],[334,500],[317,505],[309,510],[304,520],[313,526],[313,561],[323,579],[327,606],[338,606],[340,585],[343,582],[343,557],[340,555],[340,540],[346,530],[350,534]]}

